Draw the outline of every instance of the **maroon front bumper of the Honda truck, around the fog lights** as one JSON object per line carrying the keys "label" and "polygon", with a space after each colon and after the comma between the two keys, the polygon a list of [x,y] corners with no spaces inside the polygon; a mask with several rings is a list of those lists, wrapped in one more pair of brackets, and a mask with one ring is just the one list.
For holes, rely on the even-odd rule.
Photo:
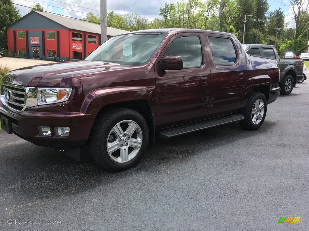
{"label": "maroon front bumper of the Honda truck, around the fog lights", "polygon": [[[10,130],[15,135],[33,144],[60,148],[82,148],[87,143],[95,115],[91,113],[67,112],[34,112],[22,111],[18,115],[12,115],[0,104],[0,115],[9,119]],[[51,127],[51,136],[40,136],[39,126]],[[67,137],[56,137],[55,127],[70,127]]]}

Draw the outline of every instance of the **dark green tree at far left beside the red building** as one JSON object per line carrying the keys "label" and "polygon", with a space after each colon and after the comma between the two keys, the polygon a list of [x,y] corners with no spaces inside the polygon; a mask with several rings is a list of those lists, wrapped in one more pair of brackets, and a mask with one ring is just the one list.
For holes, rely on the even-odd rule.
{"label": "dark green tree at far left beside the red building", "polygon": [[19,10],[11,0],[0,1],[0,49],[7,49],[7,26],[20,18]]}

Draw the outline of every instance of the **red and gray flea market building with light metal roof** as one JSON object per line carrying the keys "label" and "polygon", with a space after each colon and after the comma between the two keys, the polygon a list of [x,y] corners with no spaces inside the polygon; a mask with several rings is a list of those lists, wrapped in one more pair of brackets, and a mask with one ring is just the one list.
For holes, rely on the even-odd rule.
{"label": "red and gray flea market building with light metal roof", "polygon": [[[108,38],[127,32],[107,28]],[[95,23],[31,11],[8,26],[7,40],[15,56],[79,60],[100,45],[101,29]]]}

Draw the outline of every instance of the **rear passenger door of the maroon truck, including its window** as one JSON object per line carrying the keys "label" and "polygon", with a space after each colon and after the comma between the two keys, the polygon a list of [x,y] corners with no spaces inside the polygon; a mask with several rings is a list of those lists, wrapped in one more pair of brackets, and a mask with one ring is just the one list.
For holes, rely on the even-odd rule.
{"label": "rear passenger door of the maroon truck, including its window", "polygon": [[207,117],[235,112],[239,108],[246,78],[249,75],[241,51],[234,37],[205,34],[210,65],[210,95]]}

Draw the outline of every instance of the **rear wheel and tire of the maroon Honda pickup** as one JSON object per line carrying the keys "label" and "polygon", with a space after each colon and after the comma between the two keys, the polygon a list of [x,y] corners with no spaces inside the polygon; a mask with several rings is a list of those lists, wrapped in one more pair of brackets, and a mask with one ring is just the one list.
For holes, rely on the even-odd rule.
{"label": "rear wheel and tire of the maroon Honda pickup", "polygon": [[243,110],[245,119],[239,121],[239,124],[245,129],[256,130],[263,124],[266,112],[267,101],[265,95],[260,92],[252,92]]}

